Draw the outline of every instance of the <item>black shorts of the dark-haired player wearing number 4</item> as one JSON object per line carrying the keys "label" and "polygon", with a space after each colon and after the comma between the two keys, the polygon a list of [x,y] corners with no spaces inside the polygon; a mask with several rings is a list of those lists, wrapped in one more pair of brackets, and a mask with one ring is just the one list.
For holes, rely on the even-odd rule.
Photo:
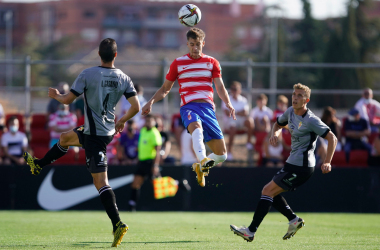
{"label": "black shorts of the dark-haired player wearing number 4", "polygon": [[86,165],[90,173],[107,172],[107,145],[112,141],[113,135],[97,136],[83,133],[84,127],[79,126],[73,129],[78,135],[79,143],[85,150]]}

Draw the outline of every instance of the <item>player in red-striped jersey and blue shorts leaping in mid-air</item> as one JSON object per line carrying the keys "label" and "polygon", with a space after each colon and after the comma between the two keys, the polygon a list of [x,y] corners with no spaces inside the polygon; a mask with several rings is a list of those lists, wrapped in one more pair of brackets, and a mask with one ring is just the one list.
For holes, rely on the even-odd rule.
{"label": "player in red-striped jersey and blue shorts leaping in mid-air", "polygon": [[[189,53],[173,61],[164,84],[144,105],[142,114],[149,114],[152,105],[165,98],[174,81],[178,80],[182,122],[192,136],[193,149],[200,161],[194,163],[192,168],[197,174],[198,184],[204,187],[205,175],[208,175],[209,168],[227,159],[226,144],[214,111],[213,80],[219,97],[229,110],[230,117],[235,120],[236,117],[224,87],[219,62],[202,53],[206,34],[201,29],[191,28],[186,37]],[[209,156],[206,156],[203,140],[213,152]]]}

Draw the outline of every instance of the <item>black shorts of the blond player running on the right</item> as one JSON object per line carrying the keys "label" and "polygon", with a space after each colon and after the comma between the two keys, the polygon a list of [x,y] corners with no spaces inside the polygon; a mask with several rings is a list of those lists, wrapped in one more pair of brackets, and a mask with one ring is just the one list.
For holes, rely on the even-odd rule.
{"label": "black shorts of the blond player running on the right", "polygon": [[289,163],[275,174],[273,181],[287,191],[294,191],[314,174],[314,167],[299,167]]}

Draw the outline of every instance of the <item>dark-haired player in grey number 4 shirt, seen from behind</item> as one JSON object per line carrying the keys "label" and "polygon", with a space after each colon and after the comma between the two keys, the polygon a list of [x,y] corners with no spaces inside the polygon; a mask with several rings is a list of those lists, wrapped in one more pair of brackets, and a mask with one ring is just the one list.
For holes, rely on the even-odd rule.
{"label": "dark-haired player in grey number 4 shirt, seen from behind", "polygon": [[[106,147],[115,133],[123,131],[125,122],[139,112],[140,104],[131,78],[114,66],[117,56],[115,40],[104,39],[99,45],[99,56],[101,66],[83,70],[68,94],[62,95],[57,89],[49,88],[49,97],[63,104],[70,104],[81,94],[84,95],[84,126],[62,133],[59,142],[42,159],[33,158],[27,152],[24,153],[24,159],[32,174],[38,175],[43,167],[64,156],[69,146],[83,147],[87,169],[112,221],[112,246],[117,247],[128,226],[120,220],[115,194],[108,184]],[[131,108],[115,124],[115,107],[122,95],[131,103]]]}

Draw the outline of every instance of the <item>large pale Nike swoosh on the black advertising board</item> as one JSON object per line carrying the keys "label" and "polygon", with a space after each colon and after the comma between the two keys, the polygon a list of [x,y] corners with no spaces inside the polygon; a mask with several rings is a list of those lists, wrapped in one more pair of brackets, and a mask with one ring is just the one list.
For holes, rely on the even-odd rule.
{"label": "large pale Nike swoosh on the black advertising board", "polygon": [[[54,171],[54,168],[50,170],[38,189],[37,201],[43,209],[63,210],[99,196],[94,184],[69,190],[59,190],[55,188],[53,185]],[[109,180],[109,185],[112,189],[116,189],[132,183],[132,181],[133,174],[129,174]]]}

